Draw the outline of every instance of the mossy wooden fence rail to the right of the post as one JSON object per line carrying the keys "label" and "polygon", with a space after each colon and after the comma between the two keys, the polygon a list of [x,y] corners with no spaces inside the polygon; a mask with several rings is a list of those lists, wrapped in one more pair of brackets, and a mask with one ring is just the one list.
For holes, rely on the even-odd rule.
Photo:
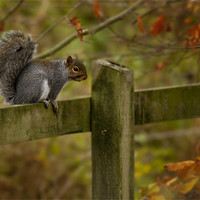
{"label": "mossy wooden fence rail to the right of the post", "polygon": [[135,124],[200,117],[200,84],[135,92]]}

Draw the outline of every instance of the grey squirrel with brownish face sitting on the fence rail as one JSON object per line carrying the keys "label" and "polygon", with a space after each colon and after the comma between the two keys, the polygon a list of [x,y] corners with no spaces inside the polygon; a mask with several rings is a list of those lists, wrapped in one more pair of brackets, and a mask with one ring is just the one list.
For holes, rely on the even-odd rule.
{"label": "grey squirrel with brownish face sitting on the fence rail", "polygon": [[0,38],[0,90],[9,104],[42,102],[58,111],[56,97],[71,80],[87,79],[84,64],[66,60],[33,59],[37,44],[21,31],[5,32]]}

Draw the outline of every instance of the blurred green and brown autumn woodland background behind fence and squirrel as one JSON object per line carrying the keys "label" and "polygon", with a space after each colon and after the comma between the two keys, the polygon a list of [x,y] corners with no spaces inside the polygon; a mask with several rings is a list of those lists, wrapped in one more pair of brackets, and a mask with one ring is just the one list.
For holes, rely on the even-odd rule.
{"label": "blurred green and brown autumn woodland background behind fence and squirrel", "polygon": [[[86,65],[88,79],[69,83],[59,100],[91,95],[92,62],[101,58],[132,68],[135,90],[199,83],[198,1],[1,0],[0,11],[0,31],[30,33],[38,41],[36,56],[77,54]],[[89,34],[61,48],[85,29]],[[136,126],[135,141],[137,199],[140,186],[165,175],[163,165],[199,156],[200,120]],[[0,199],[91,199],[90,133],[3,145],[0,155]]]}

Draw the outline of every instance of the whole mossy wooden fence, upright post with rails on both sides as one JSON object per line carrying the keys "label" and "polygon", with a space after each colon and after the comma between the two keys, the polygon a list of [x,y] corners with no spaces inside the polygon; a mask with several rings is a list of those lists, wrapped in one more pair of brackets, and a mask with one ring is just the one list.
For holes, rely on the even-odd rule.
{"label": "whole mossy wooden fence, upright post with rails on both sides", "polygon": [[92,132],[93,199],[133,199],[134,126],[200,116],[200,84],[134,91],[133,71],[92,67],[92,97],[0,109],[0,144]]}

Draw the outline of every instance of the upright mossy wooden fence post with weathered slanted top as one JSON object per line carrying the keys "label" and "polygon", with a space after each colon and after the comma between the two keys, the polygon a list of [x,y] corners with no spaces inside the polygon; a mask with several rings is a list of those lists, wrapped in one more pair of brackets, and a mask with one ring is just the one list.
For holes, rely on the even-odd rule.
{"label": "upright mossy wooden fence post with weathered slanted top", "polygon": [[93,199],[133,199],[133,71],[98,60],[92,78]]}

